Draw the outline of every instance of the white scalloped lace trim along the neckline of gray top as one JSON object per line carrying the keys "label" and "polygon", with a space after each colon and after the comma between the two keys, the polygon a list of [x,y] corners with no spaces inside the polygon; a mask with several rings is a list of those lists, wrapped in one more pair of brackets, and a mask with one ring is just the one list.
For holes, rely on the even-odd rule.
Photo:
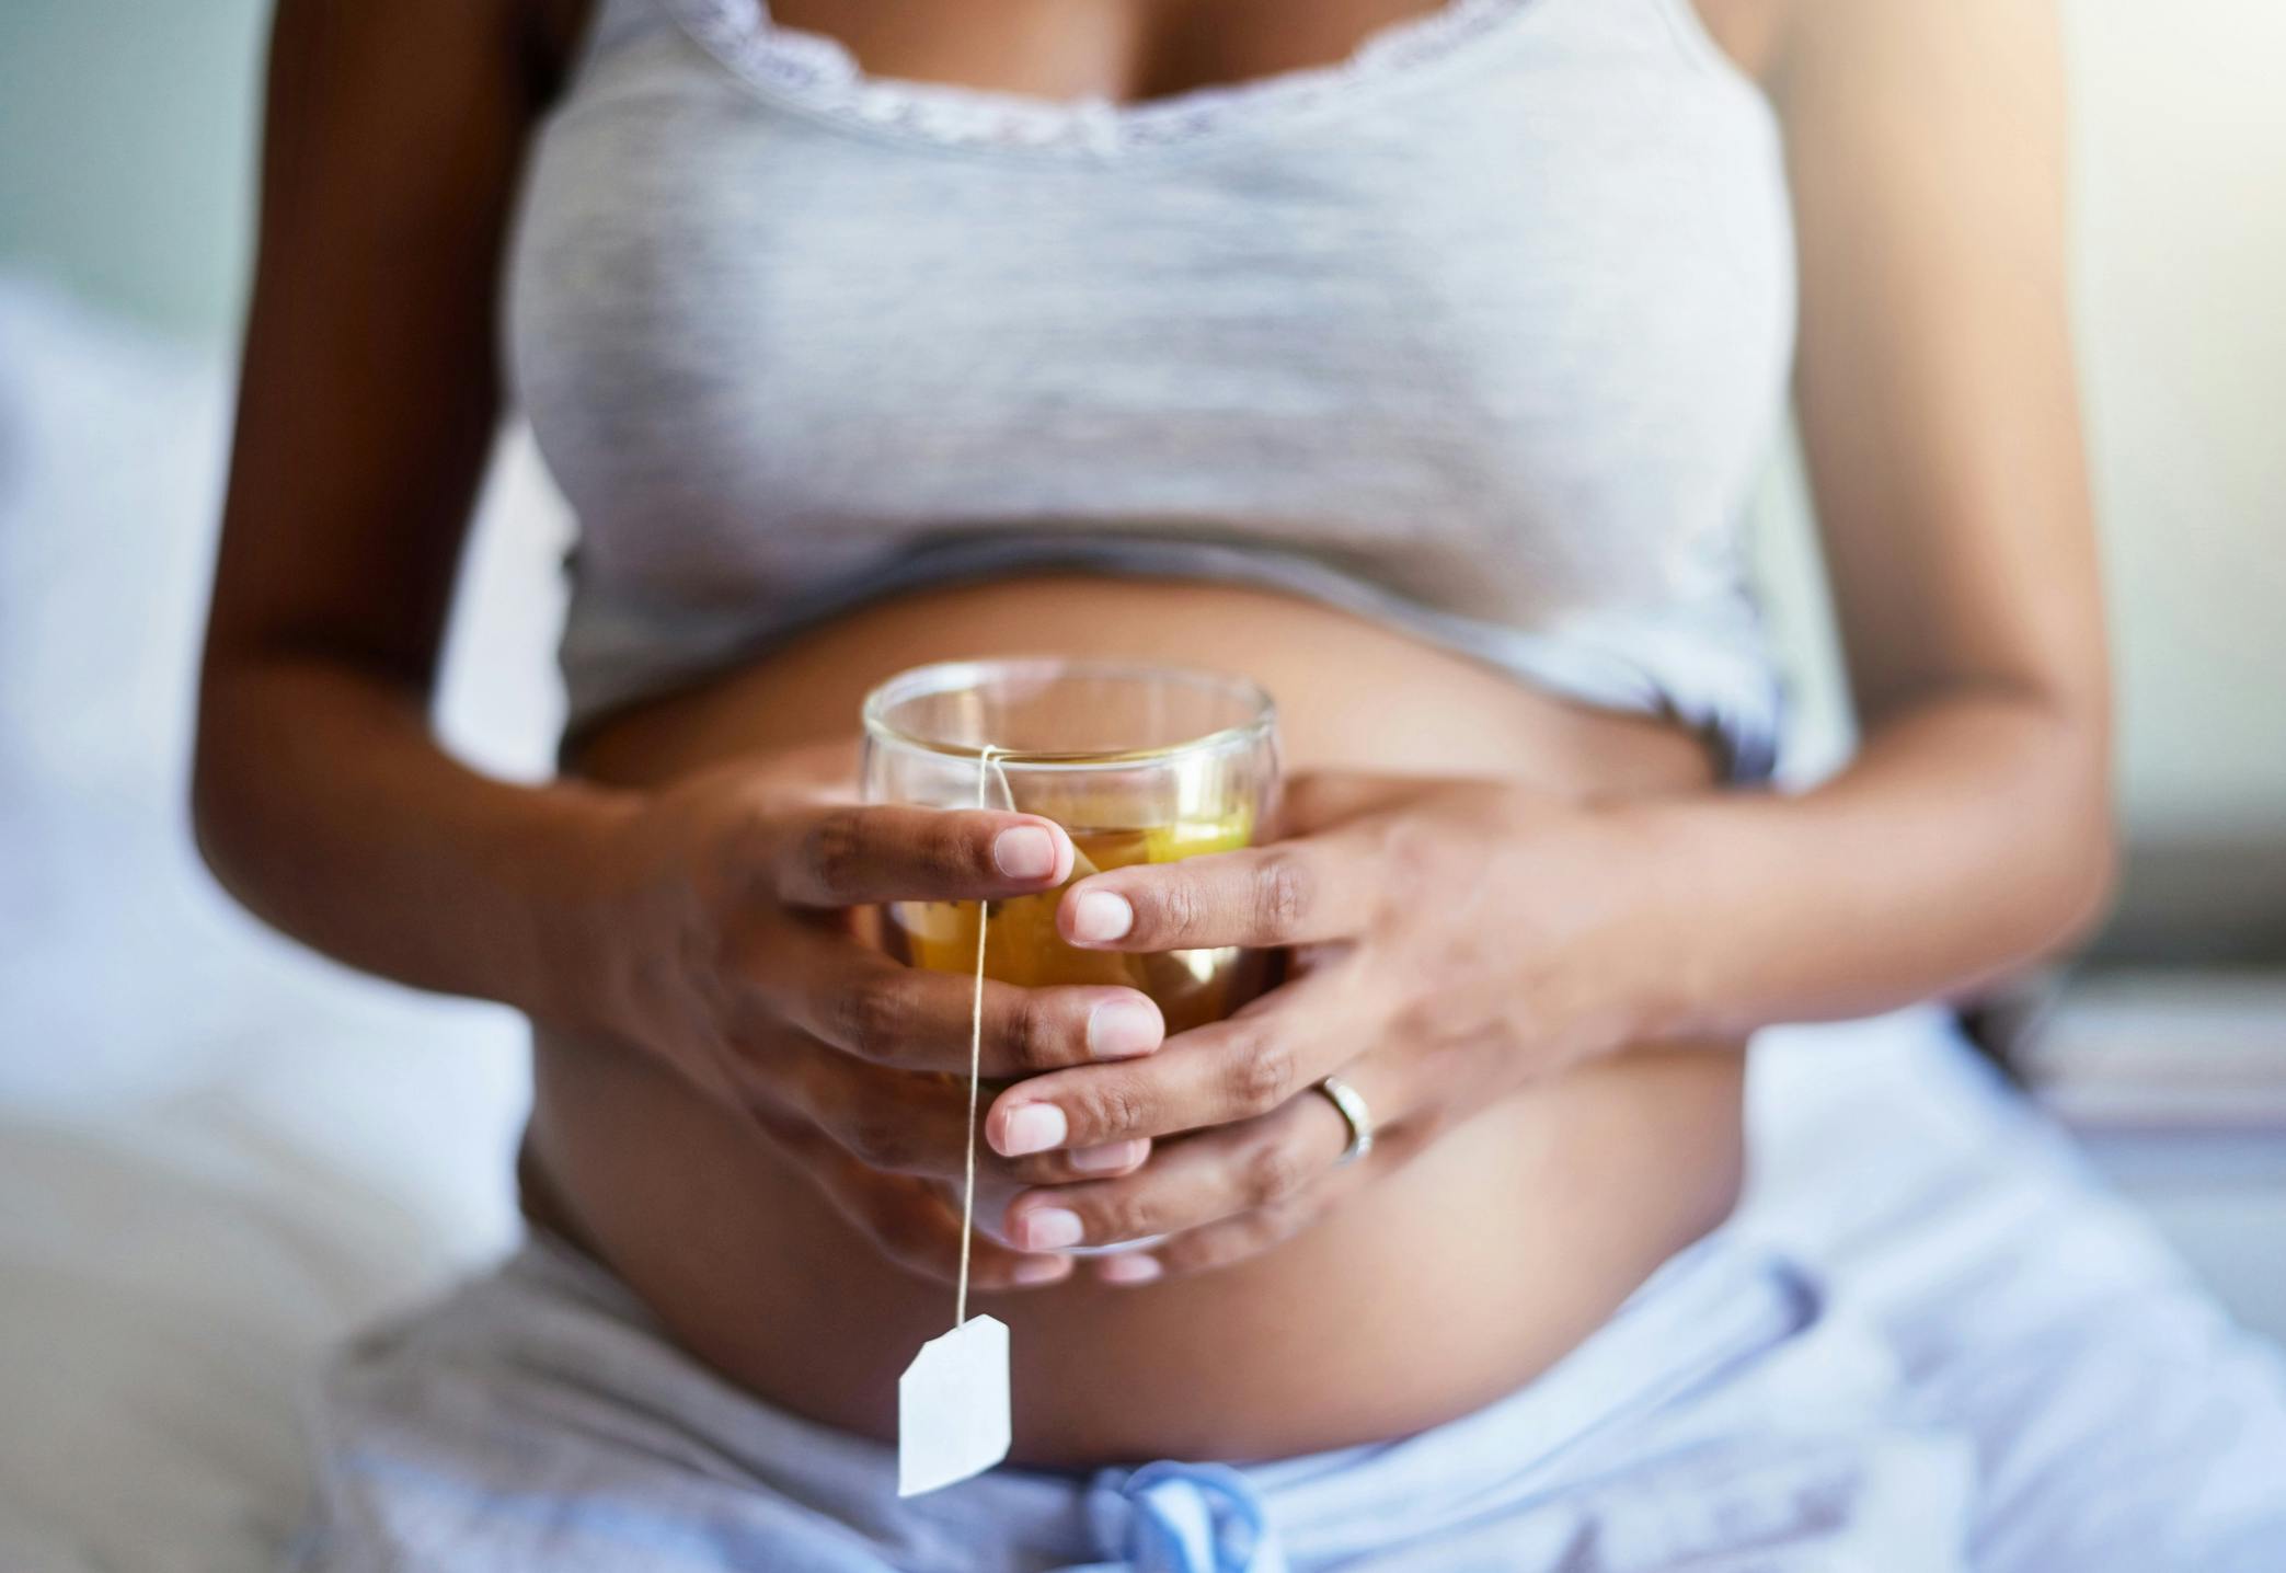
{"label": "white scalloped lace trim along the neckline of gray top", "polygon": [[1445,0],[1376,27],[1340,64],[1193,87],[1143,103],[1033,98],[951,82],[866,75],[839,41],[780,27],[768,0],[665,0],[709,55],[816,114],[953,146],[1116,155],[1180,146],[1271,112],[1312,110],[1456,53],[1534,0]]}

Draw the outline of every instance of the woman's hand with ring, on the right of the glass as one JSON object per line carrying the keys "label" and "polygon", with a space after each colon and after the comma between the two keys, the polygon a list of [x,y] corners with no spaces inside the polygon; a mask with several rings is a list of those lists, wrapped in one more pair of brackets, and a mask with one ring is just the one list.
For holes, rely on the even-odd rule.
{"label": "woman's hand with ring, on the right of the glass", "polygon": [[[1024,1191],[1026,1251],[1166,1237],[1102,1257],[1143,1283],[1253,1255],[1534,1077],[1639,1036],[1650,855],[1630,821],[1506,782],[1303,775],[1289,839],[1072,885],[1056,924],[1109,951],[1287,947],[1287,983],[1145,1059],[1004,1091],[1008,1157],[1161,1139],[1136,1173]],[[1349,1081],[1374,1148],[1319,1091]],[[1189,1132],[1189,1134],[1184,1134]],[[1175,1141],[1166,1141],[1177,1136]]]}

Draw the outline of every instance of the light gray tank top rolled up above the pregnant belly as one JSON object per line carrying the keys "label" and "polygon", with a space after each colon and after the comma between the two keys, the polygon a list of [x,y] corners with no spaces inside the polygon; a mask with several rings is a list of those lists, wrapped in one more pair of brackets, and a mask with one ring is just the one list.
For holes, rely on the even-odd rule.
{"label": "light gray tank top rolled up above the pregnant belly", "polygon": [[1776,126],[1689,0],[1449,0],[1134,107],[601,0],[507,274],[572,729],[1068,567],[1330,601],[1763,775],[1740,526],[1792,320]]}

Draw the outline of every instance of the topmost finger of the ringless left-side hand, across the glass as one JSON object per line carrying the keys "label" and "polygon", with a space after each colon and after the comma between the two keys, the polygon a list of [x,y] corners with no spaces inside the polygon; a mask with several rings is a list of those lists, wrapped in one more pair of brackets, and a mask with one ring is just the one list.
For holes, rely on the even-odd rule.
{"label": "topmost finger of the ringless left-side hand, across the glass", "polygon": [[793,905],[985,901],[1072,878],[1072,837],[1038,814],[839,805],[798,819],[770,862]]}

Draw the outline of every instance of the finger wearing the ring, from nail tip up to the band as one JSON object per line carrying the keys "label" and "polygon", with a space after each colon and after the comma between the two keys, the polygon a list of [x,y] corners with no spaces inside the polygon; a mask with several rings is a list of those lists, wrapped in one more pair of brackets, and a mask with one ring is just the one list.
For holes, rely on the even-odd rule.
{"label": "finger wearing the ring, from nail tip up to the band", "polygon": [[1166,1143],[1132,1175],[1024,1191],[1004,1235],[1026,1251],[1182,1235],[1282,1207],[1333,1173],[1346,1145],[1349,1125],[1328,1100],[1294,1097],[1260,1120]]}

